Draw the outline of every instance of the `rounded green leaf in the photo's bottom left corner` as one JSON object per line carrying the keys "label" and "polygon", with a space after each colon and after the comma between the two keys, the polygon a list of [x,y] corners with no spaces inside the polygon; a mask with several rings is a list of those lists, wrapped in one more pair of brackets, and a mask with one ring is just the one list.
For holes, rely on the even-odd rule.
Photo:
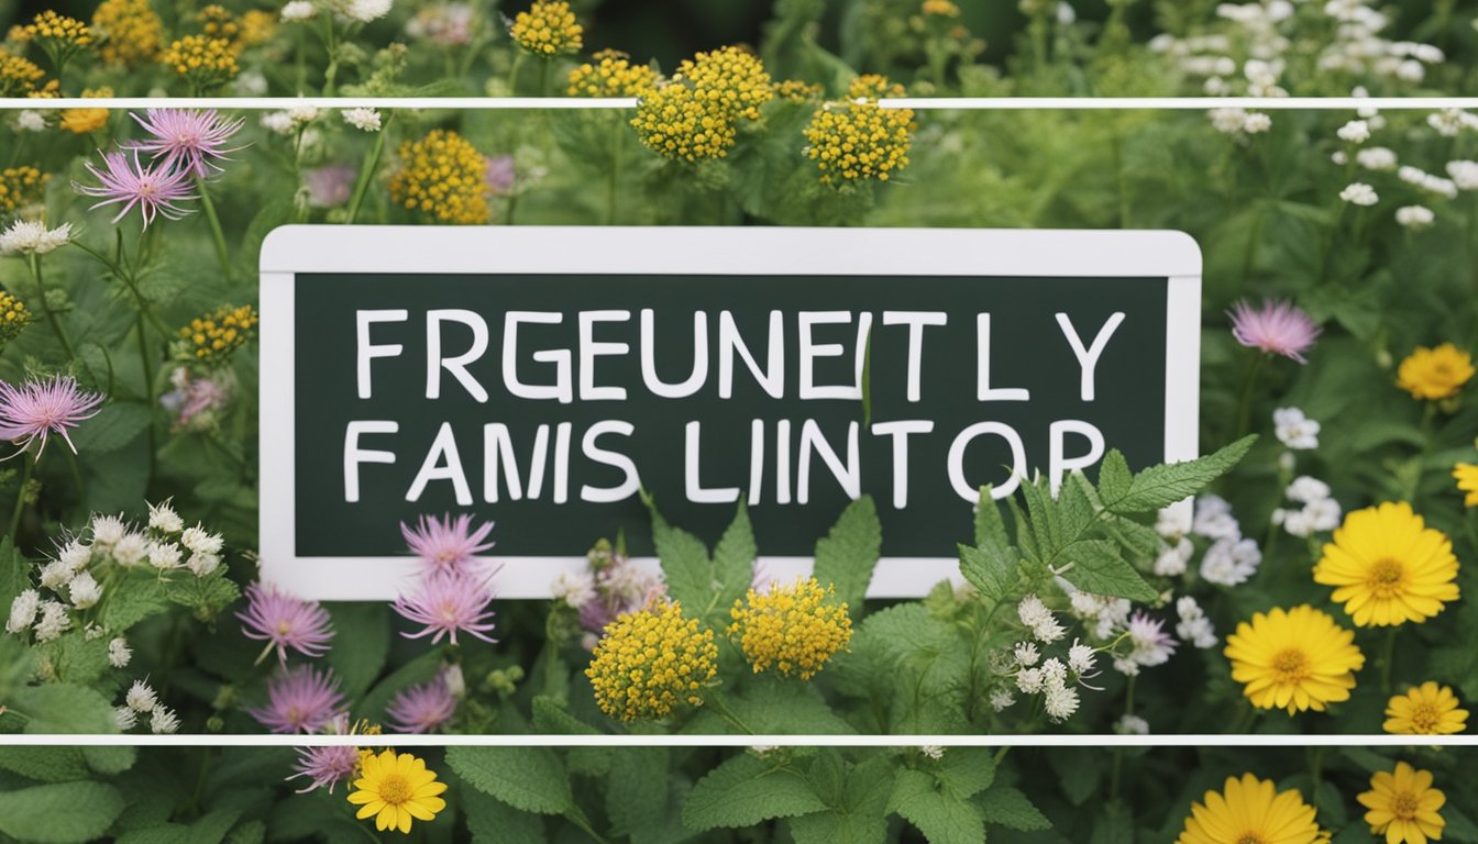
{"label": "rounded green leaf in the photo's bottom left corner", "polygon": [[80,844],[106,832],[123,806],[118,789],[101,782],[0,792],[0,832],[34,844]]}

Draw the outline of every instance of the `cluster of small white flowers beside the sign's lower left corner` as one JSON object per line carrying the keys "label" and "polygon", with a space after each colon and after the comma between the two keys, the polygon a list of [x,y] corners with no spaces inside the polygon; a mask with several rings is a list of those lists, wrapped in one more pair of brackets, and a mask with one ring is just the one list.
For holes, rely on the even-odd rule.
{"label": "cluster of small white flowers beside the sign's lower left corner", "polygon": [[[53,597],[43,599],[35,588],[22,591],[10,602],[6,633],[33,630],[37,641],[52,641],[72,628],[72,610],[92,609],[102,600],[99,574],[106,579],[112,566],[133,568],[146,560],[160,571],[186,568],[195,576],[207,576],[220,568],[222,544],[219,534],[200,525],[185,528],[168,503],[149,506],[145,531],[130,529],[117,516],[95,516],[90,537],[74,537],[58,545],[56,557],[41,566],[38,587]],[[188,560],[185,551],[189,551]],[[89,639],[102,636],[101,628],[96,636],[93,630],[89,625]],[[127,665],[130,655],[127,641],[117,639],[109,644],[108,659],[114,667]]]}

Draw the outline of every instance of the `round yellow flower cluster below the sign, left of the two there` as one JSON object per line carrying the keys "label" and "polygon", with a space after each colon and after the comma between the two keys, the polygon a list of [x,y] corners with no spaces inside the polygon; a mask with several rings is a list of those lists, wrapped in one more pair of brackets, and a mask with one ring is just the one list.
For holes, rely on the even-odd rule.
{"label": "round yellow flower cluster below the sign, left of the two there", "polygon": [[714,631],[683,618],[678,602],[619,616],[606,625],[585,677],[612,718],[665,718],[681,704],[701,705],[714,677]]}

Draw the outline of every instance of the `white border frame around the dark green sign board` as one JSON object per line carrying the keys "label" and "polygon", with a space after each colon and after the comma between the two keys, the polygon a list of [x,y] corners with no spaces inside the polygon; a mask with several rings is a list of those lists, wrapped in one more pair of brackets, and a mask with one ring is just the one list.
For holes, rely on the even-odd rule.
{"label": "white border frame around the dark green sign board", "polygon": [[[263,384],[272,377],[260,401],[262,579],[304,599],[393,600],[415,568],[408,556],[294,551],[296,273],[1168,278],[1165,460],[1199,455],[1202,256],[1184,232],[293,225],[262,242],[260,269]],[[500,599],[548,599],[560,572],[585,565],[582,556],[494,559],[503,563],[494,581]],[[637,562],[656,568],[655,559]],[[810,565],[810,557],[760,557],[766,575],[779,579],[808,572]],[[959,578],[953,557],[884,557],[868,597],[919,597],[946,578]]]}

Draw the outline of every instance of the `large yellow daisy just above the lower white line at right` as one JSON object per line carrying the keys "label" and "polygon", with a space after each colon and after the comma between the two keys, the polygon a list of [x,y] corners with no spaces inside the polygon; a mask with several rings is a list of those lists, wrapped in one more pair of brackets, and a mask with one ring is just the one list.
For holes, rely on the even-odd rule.
{"label": "large yellow daisy just above the lower white line at right", "polygon": [[1366,664],[1355,634],[1310,605],[1253,613],[1227,637],[1225,655],[1253,707],[1290,715],[1348,701],[1354,673]]}

